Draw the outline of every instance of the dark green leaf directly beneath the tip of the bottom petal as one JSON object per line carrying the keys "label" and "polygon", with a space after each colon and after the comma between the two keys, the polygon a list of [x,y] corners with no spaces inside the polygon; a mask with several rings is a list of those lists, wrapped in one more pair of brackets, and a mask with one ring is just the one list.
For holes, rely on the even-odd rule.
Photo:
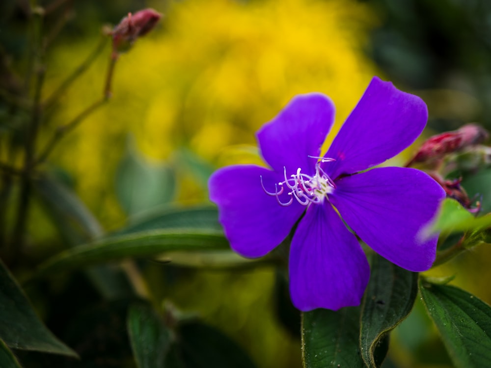
{"label": "dark green leaf directly beneath the tip of the bottom petal", "polygon": [[359,353],[360,308],[315,309],[302,315],[306,368],[364,368]]}

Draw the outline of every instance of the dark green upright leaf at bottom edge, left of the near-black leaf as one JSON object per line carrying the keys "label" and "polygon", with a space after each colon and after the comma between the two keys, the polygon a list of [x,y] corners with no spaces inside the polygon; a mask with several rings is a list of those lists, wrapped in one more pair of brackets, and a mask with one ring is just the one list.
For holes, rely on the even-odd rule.
{"label": "dark green upright leaf at bottom edge, left of the near-black leaf", "polygon": [[164,368],[170,330],[148,305],[135,304],[128,311],[128,333],[138,368]]}

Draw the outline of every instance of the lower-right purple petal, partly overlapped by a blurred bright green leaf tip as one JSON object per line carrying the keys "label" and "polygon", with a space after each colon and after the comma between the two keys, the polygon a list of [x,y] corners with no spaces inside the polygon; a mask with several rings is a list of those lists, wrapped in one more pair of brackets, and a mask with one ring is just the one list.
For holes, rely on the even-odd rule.
{"label": "lower-right purple petal, partly overlapped by a blurred bright green leaf tip", "polygon": [[406,270],[432,266],[437,236],[423,241],[419,232],[445,193],[428,174],[377,168],[336,180],[336,186],[331,203],[368,246]]}

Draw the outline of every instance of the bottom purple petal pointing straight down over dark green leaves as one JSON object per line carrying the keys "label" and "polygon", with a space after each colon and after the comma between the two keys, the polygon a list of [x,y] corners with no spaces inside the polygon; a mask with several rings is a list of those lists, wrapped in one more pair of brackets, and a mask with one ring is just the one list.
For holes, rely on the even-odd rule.
{"label": "bottom purple petal pointing straight down over dark green leaves", "polygon": [[370,268],[356,237],[329,202],[311,205],[290,249],[290,294],[302,311],[360,304]]}

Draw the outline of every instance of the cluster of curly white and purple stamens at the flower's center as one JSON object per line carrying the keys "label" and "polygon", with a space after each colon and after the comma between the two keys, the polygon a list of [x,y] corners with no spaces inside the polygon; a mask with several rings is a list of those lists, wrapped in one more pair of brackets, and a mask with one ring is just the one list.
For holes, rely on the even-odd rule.
{"label": "cluster of curly white and purple stamens at the flower's center", "polygon": [[[292,174],[290,177],[287,177],[285,167],[285,180],[274,184],[274,192],[268,192],[266,188],[264,188],[263,177],[261,176],[261,186],[263,187],[264,192],[269,196],[275,196],[278,203],[282,206],[289,206],[293,203],[294,198],[304,206],[307,206],[310,203],[322,203],[327,195],[333,192],[336,185],[329,175],[322,170],[320,164],[323,162],[334,161],[334,159],[321,157],[312,158],[321,159],[320,162],[315,164],[314,176],[304,174],[301,172],[301,169],[298,168],[296,174]],[[289,192],[286,194],[290,196],[290,199],[286,203],[282,202],[279,198],[284,193],[285,187],[289,190]]]}

